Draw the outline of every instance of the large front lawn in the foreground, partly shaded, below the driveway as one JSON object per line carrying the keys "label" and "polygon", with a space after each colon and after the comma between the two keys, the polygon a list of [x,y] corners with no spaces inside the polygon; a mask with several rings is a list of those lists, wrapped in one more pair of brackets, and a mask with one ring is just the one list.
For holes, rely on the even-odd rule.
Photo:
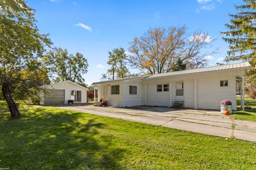
{"label": "large front lawn in the foreground, partly shaded, below the driveway", "polygon": [[54,107],[0,111],[0,167],[256,169],[256,143]]}

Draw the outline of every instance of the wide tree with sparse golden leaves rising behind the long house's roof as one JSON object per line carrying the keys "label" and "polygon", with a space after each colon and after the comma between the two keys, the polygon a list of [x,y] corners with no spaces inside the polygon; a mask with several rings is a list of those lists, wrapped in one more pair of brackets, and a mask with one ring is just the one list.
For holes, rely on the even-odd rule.
{"label": "wide tree with sparse golden leaves rising behind the long house's roof", "polygon": [[201,30],[189,36],[185,26],[150,28],[131,42],[129,61],[134,68],[150,74],[177,70],[181,63],[188,68],[202,67],[207,65],[205,57],[216,52],[207,52],[212,41],[213,38]]}

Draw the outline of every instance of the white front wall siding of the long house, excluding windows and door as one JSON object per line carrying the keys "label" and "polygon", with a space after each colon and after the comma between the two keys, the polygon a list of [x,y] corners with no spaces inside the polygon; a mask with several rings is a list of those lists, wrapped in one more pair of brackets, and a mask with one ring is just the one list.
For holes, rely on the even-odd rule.
{"label": "white front wall siding of the long house, excluding windows and door", "polygon": [[[185,107],[195,108],[196,88],[198,109],[220,109],[220,101],[224,99],[231,100],[233,109],[236,109],[236,76],[244,73],[244,70],[206,72],[156,79],[125,80],[99,86],[102,86],[103,96],[109,101],[110,106],[172,106],[175,100],[175,82],[182,81]],[[220,87],[220,80],[228,80],[228,87]],[[170,84],[170,82],[169,91],[157,92],[157,84]],[[120,94],[111,95],[110,86],[117,84],[120,85]],[[137,95],[129,95],[129,86],[137,86]]]}

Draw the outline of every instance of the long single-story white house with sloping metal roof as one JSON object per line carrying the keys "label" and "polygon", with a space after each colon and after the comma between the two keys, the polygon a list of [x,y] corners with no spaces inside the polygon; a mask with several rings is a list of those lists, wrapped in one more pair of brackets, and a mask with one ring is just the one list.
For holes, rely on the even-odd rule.
{"label": "long single-story white house with sloping metal roof", "polygon": [[[110,106],[173,106],[220,109],[220,101],[231,100],[236,110],[237,84],[244,94],[244,75],[249,62],[203,67],[140,77],[94,82],[98,100]],[[239,83],[237,83],[239,81]]]}

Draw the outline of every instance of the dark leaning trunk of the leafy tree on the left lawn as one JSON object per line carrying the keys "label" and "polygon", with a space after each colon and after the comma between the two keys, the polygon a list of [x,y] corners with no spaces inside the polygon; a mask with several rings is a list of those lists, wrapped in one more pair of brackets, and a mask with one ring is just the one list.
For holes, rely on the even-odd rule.
{"label": "dark leaning trunk of the leafy tree on the left lawn", "polygon": [[9,86],[3,85],[2,92],[3,92],[4,99],[7,102],[9,111],[11,112],[11,116],[12,117],[20,116],[19,108],[18,108],[17,104],[15,104],[15,102],[12,98],[12,94],[11,94],[11,90],[10,90]]}

